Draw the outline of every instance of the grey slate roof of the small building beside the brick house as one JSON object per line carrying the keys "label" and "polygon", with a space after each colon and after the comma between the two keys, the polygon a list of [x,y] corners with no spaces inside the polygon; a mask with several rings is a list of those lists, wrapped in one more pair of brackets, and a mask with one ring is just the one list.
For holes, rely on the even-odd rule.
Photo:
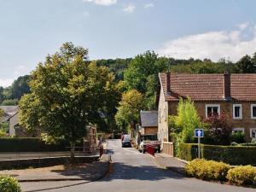
{"label": "grey slate roof of the small building beside the brick house", "polygon": [[158,126],[158,112],[157,111],[141,111],[142,127]]}

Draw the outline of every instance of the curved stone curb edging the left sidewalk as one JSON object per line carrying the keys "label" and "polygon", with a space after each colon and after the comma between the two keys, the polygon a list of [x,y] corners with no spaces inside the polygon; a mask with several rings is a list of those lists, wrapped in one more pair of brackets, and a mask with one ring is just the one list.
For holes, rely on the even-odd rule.
{"label": "curved stone curb edging the left sidewalk", "polygon": [[[46,191],[46,190],[50,190],[50,189],[61,189],[61,188],[67,188],[67,187],[72,187],[72,186],[76,186],[76,185],[80,185],[80,184],[85,184],[85,183],[92,183],[92,182],[96,182],[96,181],[98,181],[98,180],[100,180],[100,179],[102,179],[103,177],[106,177],[107,175],[108,175],[108,172],[109,172],[109,168],[110,168],[110,164],[111,164],[111,155],[109,155],[109,158],[108,158],[108,165],[107,165],[107,169],[106,169],[106,171],[105,172],[103,172],[103,174],[101,175],[101,176],[99,176],[99,177],[96,177],[96,178],[94,178],[94,179],[92,179],[92,180],[90,180],[90,181],[85,181],[85,182],[81,182],[81,183],[75,183],[75,184],[67,184],[67,185],[63,185],[63,186],[61,186],[61,187],[53,187],[53,188],[47,188],[47,189],[34,189],[34,190],[24,190],[23,192],[37,192],[37,191]],[[44,181],[79,181],[79,180],[83,180],[83,179],[76,179],[76,180],[70,180],[70,179],[66,179],[66,180],[44,180]],[[33,181],[31,181],[30,180],[30,182],[33,182]],[[35,182],[37,182],[37,181],[35,181]],[[38,182],[40,182],[39,180],[38,180]],[[41,182],[42,182],[42,180],[41,180]]]}

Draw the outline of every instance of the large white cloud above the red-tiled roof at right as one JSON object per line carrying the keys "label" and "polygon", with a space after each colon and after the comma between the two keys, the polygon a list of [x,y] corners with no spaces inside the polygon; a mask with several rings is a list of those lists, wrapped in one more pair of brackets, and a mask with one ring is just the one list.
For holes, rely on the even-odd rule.
{"label": "large white cloud above the red-tiled roof at right", "polygon": [[[256,26],[250,38],[243,39],[244,27],[239,31],[217,31],[189,35],[183,38],[172,39],[166,42],[157,52],[160,55],[172,56],[175,58],[209,58],[218,61],[223,57],[229,57],[237,61],[243,55],[252,55],[256,51]],[[177,53],[177,54],[173,54]]]}

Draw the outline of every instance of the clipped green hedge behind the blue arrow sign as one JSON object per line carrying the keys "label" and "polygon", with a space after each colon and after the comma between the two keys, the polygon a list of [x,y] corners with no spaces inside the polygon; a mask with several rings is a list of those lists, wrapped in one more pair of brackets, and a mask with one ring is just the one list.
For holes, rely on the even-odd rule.
{"label": "clipped green hedge behind the blue arrow sign", "polygon": [[[197,157],[197,148],[195,143],[181,143],[178,155],[183,160],[194,160]],[[206,160],[223,161],[233,166],[256,166],[256,147],[201,144],[201,157]]]}

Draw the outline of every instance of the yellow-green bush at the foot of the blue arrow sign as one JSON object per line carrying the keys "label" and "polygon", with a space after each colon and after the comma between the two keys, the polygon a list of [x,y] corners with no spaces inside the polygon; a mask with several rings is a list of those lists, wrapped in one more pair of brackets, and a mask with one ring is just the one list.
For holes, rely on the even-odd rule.
{"label": "yellow-green bush at the foot of the blue arrow sign", "polygon": [[195,159],[189,162],[185,169],[190,177],[198,177],[203,180],[224,181],[226,180],[230,166],[223,162]]}

